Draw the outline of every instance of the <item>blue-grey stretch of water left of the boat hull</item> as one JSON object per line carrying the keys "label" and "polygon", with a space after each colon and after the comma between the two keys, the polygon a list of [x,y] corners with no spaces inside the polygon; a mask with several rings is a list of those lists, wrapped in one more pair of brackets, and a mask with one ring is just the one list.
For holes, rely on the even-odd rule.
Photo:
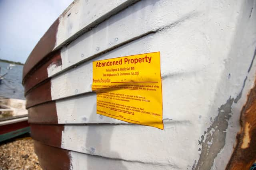
{"label": "blue-grey stretch of water left of the boat hull", "polygon": [[11,70],[8,70],[7,67],[9,63],[0,62],[1,73],[2,76],[6,72],[6,76],[2,80],[0,84],[0,96],[6,98],[15,98],[15,99],[23,99],[24,98],[24,88],[22,86],[22,70],[23,66],[15,65],[12,66]]}

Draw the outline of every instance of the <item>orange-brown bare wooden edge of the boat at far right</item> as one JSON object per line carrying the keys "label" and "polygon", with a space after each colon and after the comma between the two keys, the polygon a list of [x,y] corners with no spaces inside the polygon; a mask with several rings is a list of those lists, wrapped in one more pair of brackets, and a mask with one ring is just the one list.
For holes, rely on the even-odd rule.
{"label": "orange-brown bare wooden edge of the boat at far right", "polygon": [[256,159],[256,81],[240,115],[240,132],[226,170],[249,169]]}

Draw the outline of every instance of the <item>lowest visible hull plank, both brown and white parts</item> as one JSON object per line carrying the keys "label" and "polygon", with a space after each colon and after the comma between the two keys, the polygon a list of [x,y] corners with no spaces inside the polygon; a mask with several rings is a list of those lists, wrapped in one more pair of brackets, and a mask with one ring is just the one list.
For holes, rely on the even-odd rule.
{"label": "lowest visible hull plank, both brown and white parts", "polygon": [[47,170],[102,170],[103,167],[104,170],[170,170],[178,168],[172,165],[159,165],[151,162],[145,164],[82,154],[44,145],[38,141],[34,141],[34,147],[41,167]]}

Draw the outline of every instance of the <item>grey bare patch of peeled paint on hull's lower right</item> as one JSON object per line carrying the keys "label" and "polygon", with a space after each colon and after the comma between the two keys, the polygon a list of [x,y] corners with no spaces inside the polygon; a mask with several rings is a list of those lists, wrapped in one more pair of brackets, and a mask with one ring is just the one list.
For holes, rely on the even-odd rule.
{"label": "grey bare patch of peeled paint on hull's lower right", "polygon": [[[220,106],[218,116],[215,117],[207,132],[201,136],[199,144],[202,145],[202,152],[196,166],[193,166],[195,168],[192,168],[192,170],[211,169],[214,159],[225,145],[226,129],[231,117],[233,101],[234,99],[230,97],[226,104]],[[203,142],[204,138],[205,141]]]}

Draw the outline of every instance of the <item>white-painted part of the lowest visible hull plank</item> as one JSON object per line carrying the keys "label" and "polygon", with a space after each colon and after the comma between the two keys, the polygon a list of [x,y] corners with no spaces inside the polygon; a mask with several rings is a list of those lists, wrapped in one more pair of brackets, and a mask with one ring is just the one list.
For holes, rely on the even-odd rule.
{"label": "white-painted part of the lowest visible hull plank", "polygon": [[172,170],[176,167],[170,165],[144,164],[140,162],[128,162],[125,160],[109,159],[100,156],[92,156],[79,152],[69,152],[73,170]]}

